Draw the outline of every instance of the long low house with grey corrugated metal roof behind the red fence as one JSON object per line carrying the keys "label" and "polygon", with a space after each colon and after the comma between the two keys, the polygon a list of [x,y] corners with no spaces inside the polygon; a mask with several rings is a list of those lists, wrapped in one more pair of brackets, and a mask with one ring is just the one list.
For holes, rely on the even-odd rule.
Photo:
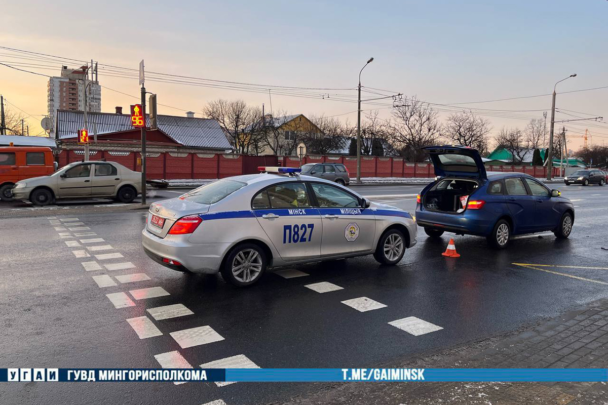
{"label": "long low house with grey corrugated metal roof behind the red fence", "polygon": [[[117,108],[117,111],[119,109]],[[172,149],[205,149],[210,151],[229,151],[232,149],[226,133],[218,121],[209,118],[195,118],[193,114],[187,117],[175,115],[157,115],[157,126],[147,131],[147,140],[152,143],[165,144]],[[78,131],[85,124],[82,111],[57,110],[55,137],[58,143],[74,143]],[[130,141],[131,144],[140,140],[139,128],[131,125],[129,114],[112,114],[107,112],[87,113],[89,138],[97,134],[98,141],[120,142]],[[150,117],[146,115],[146,126],[150,128]]]}

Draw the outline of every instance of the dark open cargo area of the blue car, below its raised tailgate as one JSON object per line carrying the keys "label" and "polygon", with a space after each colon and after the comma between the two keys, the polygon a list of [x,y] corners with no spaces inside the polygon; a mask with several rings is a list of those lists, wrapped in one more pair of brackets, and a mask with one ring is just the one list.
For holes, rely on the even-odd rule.
{"label": "dark open cargo area of the blue car, below its raised tailgate", "polygon": [[478,183],[469,179],[441,179],[423,196],[424,209],[458,214],[466,209]]}

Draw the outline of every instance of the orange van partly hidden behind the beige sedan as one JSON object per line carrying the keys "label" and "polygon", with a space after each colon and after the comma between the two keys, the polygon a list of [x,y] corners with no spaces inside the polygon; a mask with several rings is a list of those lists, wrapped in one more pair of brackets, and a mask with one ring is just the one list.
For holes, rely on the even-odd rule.
{"label": "orange van partly hidden behind the beige sedan", "polygon": [[0,199],[13,199],[12,189],[19,180],[52,174],[57,169],[50,148],[42,146],[0,147]]}

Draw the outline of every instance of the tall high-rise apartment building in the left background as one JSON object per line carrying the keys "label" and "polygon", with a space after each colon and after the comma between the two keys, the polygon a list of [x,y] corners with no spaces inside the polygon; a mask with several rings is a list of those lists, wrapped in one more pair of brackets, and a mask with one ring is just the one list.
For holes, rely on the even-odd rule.
{"label": "tall high-rise apartment building in the left background", "polygon": [[97,63],[89,67],[68,69],[61,66],[61,76],[49,78],[48,105],[49,117],[53,122],[50,135],[55,135],[57,110],[84,111],[86,88],[86,110],[102,111],[102,88],[97,80]]}

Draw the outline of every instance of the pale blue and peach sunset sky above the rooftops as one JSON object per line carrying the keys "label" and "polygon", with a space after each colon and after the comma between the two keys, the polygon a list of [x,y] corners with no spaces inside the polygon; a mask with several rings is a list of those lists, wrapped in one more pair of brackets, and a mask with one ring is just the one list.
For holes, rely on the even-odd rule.
{"label": "pale blue and peach sunset sky above the rooftops", "polygon": [[[556,120],[606,117],[606,124],[565,124],[572,135],[570,148],[577,149],[582,139],[574,135],[586,128],[593,143],[608,144],[608,88],[559,93],[608,86],[606,21],[606,0],[22,0],[2,5],[0,46],[133,69],[143,58],[147,70],[187,77],[342,89],[277,90],[289,96],[272,94],[274,88],[272,110],[340,114],[350,123],[356,122],[359,69],[370,56],[375,60],[362,74],[363,86],[437,104],[550,94],[556,81],[577,73],[558,85],[558,109],[567,111]],[[14,55],[0,49],[0,63],[19,63]],[[60,61],[30,62],[45,66],[21,69],[60,75]],[[110,72],[100,68],[102,86],[139,94],[136,78],[105,73]],[[176,107],[159,106],[161,114],[199,114],[215,98],[242,98],[270,109],[267,92],[152,81],[146,87],[158,94],[159,103]],[[32,116],[30,134],[42,131],[47,78],[0,65],[0,93],[11,103],[9,109],[17,106]],[[306,97],[292,97],[296,93]],[[134,102],[136,98],[102,89],[102,111]],[[386,105],[364,104],[363,109],[379,109],[382,118],[389,118],[390,99],[381,103]],[[496,135],[503,126],[523,128],[530,118],[549,114],[551,97],[437,107],[485,109],[475,112],[491,121]]]}

